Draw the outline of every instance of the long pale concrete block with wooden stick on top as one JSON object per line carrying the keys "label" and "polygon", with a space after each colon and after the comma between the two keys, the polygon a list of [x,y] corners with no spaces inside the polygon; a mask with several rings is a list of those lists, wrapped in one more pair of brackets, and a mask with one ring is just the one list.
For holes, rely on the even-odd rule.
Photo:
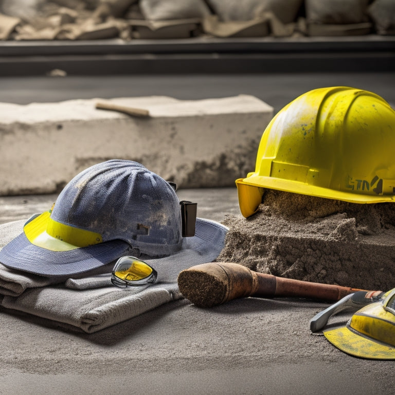
{"label": "long pale concrete block with wooden stick on top", "polygon": [[253,96],[110,101],[147,109],[149,118],[98,110],[103,99],[0,103],[0,195],[59,192],[107,159],[136,160],[178,187],[235,186],[255,169],[273,107]]}

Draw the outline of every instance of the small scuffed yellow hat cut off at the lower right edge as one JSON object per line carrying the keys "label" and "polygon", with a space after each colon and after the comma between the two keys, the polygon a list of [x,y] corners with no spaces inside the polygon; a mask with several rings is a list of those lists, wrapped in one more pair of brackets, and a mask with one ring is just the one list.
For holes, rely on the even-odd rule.
{"label": "small scuffed yellow hat cut off at the lower right edge", "polygon": [[347,354],[395,360],[395,288],[358,310],[345,327],[324,331],[324,336]]}

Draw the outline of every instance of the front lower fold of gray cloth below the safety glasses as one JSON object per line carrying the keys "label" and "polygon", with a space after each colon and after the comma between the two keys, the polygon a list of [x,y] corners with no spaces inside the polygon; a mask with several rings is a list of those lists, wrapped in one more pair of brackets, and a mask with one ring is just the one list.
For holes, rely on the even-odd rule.
{"label": "front lower fold of gray cloth below the safety glasses", "polygon": [[84,291],[59,285],[31,288],[18,297],[4,296],[2,306],[93,333],[181,297],[176,283]]}

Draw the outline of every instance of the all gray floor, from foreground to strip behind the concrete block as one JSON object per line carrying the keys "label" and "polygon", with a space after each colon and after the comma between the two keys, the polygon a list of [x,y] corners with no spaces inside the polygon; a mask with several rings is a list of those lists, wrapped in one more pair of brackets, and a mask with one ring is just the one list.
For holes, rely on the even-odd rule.
{"label": "all gray floor, from foreground to strip behind the concrete block", "polygon": [[[347,85],[395,103],[386,74],[200,75],[0,78],[0,101],[167,95],[179,99],[252,94],[278,111],[309,89]],[[180,190],[198,215],[238,213],[236,189]],[[55,195],[0,198],[0,222],[47,209]],[[325,303],[235,300],[198,309],[186,300],[92,335],[45,319],[0,314],[0,395],[393,393],[393,362],[353,358],[309,331]],[[348,314],[338,319],[346,322]]]}

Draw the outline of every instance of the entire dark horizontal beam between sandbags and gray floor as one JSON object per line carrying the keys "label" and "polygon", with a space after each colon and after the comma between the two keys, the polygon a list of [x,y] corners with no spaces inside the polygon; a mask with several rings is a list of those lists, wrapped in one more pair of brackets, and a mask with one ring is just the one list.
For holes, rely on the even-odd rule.
{"label": "entire dark horizontal beam between sandbags and gray floor", "polygon": [[0,75],[394,71],[395,37],[3,42]]}

